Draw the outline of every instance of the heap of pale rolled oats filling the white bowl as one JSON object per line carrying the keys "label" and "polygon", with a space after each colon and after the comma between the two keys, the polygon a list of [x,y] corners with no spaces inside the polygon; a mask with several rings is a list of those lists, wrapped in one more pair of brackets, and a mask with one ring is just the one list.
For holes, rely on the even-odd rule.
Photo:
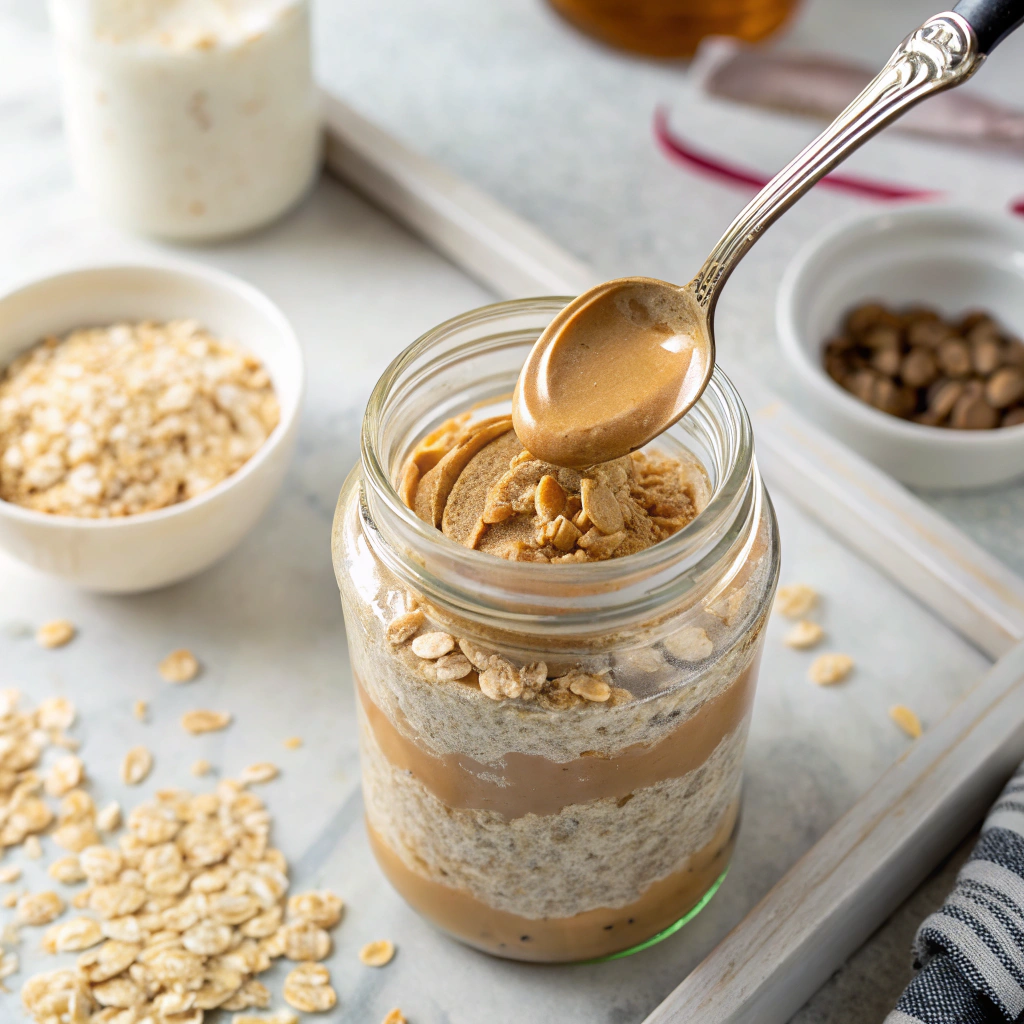
{"label": "heap of pale rolled oats filling the white bowl", "polygon": [[240,469],[279,419],[260,360],[195,321],[47,337],[0,375],[0,499],[86,518],[166,508]]}

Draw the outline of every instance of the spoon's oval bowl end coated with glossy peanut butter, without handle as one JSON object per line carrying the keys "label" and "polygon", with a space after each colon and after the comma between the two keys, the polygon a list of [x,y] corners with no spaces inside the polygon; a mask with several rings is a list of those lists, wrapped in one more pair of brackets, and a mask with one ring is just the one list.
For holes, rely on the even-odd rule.
{"label": "spoon's oval bowl end coated with glossy peanut butter, without handle", "polygon": [[629,455],[700,397],[715,347],[695,296],[653,278],[590,289],[545,329],[512,399],[519,440],[580,469]]}

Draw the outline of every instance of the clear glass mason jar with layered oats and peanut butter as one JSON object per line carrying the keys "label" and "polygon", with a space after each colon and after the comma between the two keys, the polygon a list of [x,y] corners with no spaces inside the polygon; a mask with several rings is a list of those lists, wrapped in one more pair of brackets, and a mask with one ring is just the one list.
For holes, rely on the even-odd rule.
{"label": "clear glass mason jar with layered oats and peanut butter", "polygon": [[[721,883],[779,560],[750,421],[718,370],[651,445],[699,461],[703,509],[644,551],[587,564],[504,561],[454,543],[402,503],[396,481],[415,443],[466,410],[507,412],[527,351],[567,301],[475,309],[395,359],[367,407],[361,463],[333,536],[380,866],[456,938],[541,962],[647,945]],[[419,612],[421,632],[515,666],[543,662],[551,679],[603,674],[612,697],[496,701],[476,672],[438,681],[408,631],[388,631]]]}

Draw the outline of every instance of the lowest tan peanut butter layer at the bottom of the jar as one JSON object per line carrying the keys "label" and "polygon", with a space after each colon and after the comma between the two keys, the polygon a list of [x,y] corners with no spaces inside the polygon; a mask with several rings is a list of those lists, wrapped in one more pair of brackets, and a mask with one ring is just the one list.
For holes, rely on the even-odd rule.
{"label": "lowest tan peanut butter layer at the bottom of the jar", "polygon": [[654,882],[624,907],[598,907],[571,918],[522,918],[487,906],[412,871],[367,822],[370,844],[385,877],[428,921],[484,952],[511,959],[568,963],[609,956],[674,925],[693,909],[728,866],[739,804],[723,815],[714,837],[685,867]]}

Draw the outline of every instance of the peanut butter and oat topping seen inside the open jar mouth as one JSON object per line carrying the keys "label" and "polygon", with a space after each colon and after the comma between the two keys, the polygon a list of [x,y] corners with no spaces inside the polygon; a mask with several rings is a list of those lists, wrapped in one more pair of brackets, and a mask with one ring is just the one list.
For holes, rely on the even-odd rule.
{"label": "peanut butter and oat topping seen inside the open jar mouth", "polygon": [[589,562],[643,551],[690,522],[708,481],[692,460],[634,453],[575,470],[537,459],[509,417],[442,424],[413,451],[400,493],[425,522],[498,558]]}

